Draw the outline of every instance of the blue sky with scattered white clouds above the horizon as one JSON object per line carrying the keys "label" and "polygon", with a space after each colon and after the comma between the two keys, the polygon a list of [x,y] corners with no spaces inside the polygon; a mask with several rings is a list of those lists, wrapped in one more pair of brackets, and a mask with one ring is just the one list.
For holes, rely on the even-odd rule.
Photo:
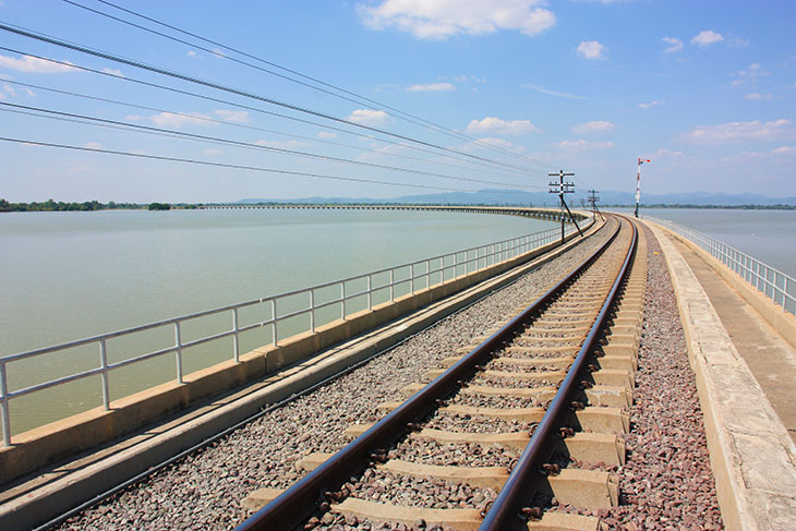
{"label": "blue sky with scattered white clouds above the horizon", "polygon": [[[178,35],[96,0],[75,2]],[[8,104],[0,105],[0,136],[261,169],[1,141],[0,197],[214,202],[310,195],[390,197],[437,189],[543,191],[547,189],[546,173],[559,168],[576,173],[580,190],[632,192],[637,157],[652,160],[642,167],[642,196],[644,192],[696,191],[796,195],[793,1],[113,3],[480,143],[420,128],[401,120],[393,109],[367,108],[234,63],[229,58],[240,56],[228,50],[221,56],[195,44],[173,43],[62,1],[0,0],[3,24],[448,149],[403,145],[407,142],[395,136],[386,138],[398,144],[384,144],[350,124],[335,124],[0,31],[0,47],[16,50],[0,50],[0,104]],[[215,45],[202,46],[218,50]],[[32,56],[69,61],[117,77]],[[248,145],[200,143],[53,121],[10,112],[41,112],[12,106]],[[384,137],[381,133],[372,136]],[[292,156],[262,147],[409,171]]]}

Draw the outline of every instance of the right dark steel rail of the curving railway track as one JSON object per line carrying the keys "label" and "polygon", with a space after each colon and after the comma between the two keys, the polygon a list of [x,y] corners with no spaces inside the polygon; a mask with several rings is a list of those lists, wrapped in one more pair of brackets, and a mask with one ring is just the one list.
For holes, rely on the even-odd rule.
{"label": "right dark steel rail of the curving railway track", "polygon": [[632,238],[619,275],[616,277],[608,297],[605,299],[589,335],[586,337],[583,346],[578,351],[571,369],[562,382],[558,391],[547,407],[542,421],[533,432],[531,441],[528,442],[528,446],[511,470],[500,493],[492,504],[484,521],[479,527],[479,531],[517,529],[527,521],[521,510],[528,507],[530,496],[535,492],[539,481],[544,476],[542,464],[547,462],[553,454],[557,430],[564,426],[566,417],[571,414],[571,402],[576,398],[576,393],[581,391],[579,383],[583,379],[587,360],[598,347],[598,341],[608,322],[622,285],[630,270],[630,263],[636,256],[638,230],[635,224],[627,222],[632,229]]}

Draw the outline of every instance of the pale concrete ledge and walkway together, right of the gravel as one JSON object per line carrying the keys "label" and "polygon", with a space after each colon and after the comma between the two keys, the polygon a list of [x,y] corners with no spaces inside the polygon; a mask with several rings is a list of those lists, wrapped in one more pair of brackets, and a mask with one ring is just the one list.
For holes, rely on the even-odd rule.
{"label": "pale concrete ledge and walkway together, right of the gravel", "polygon": [[672,275],[724,524],[728,530],[794,530],[796,445],[781,417],[792,420],[789,402],[796,393],[787,387],[796,384],[791,373],[796,357],[793,343],[756,314],[775,315],[769,322],[788,338],[796,323],[770,312],[776,310],[773,304],[761,304],[743,282],[736,288],[746,300],[739,297],[727,285],[735,278],[725,281],[723,266],[712,264],[707,253],[644,222],[660,241]]}

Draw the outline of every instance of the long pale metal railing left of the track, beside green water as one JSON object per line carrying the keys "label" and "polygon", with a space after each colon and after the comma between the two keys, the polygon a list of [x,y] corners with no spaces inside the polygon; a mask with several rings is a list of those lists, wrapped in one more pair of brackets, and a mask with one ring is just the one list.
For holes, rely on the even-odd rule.
{"label": "long pale metal railing left of the track, beside green water", "polygon": [[[567,229],[567,234],[571,233],[572,230],[574,228],[569,227]],[[178,383],[182,384],[183,351],[185,349],[197,347],[200,345],[204,345],[221,338],[231,337],[232,359],[237,363],[240,363],[240,337],[241,334],[244,334],[246,331],[260,329],[263,327],[270,327],[270,342],[273,346],[276,347],[278,346],[280,340],[279,325],[286,319],[296,319],[296,317],[302,315],[309,316],[309,327],[300,331],[294,331],[291,335],[307,330],[311,333],[315,333],[316,327],[323,324],[317,323],[318,311],[322,311],[324,309],[339,306],[339,316],[336,318],[345,319],[349,315],[363,311],[365,309],[372,310],[374,306],[374,300],[376,299],[382,299],[383,302],[393,302],[395,301],[396,297],[413,294],[420,290],[433,288],[434,286],[438,286],[451,279],[456,279],[465,275],[479,271],[486,267],[491,267],[521,254],[531,252],[542,245],[558,240],[560,236],[560,229],[553,228],[541,232],[534,232],[531,234],[512,238],[509,240],[503,240],[495,243],[489,243],[477,248],[466,249],[463,251],[458,251],[455,253],[448,253],[390,268],[379,269],[376,271],[349,277],[342,280],[326,282],[313,286],[311,288],[289,291],[286,293],[280,293],[263,299],[254,299],[238,304],[231,304],[214,310],[207,310],[190,315],[159,321],[147,325],[126,328],[110,334],[87,337],[84,339],[79,339],[76,341],[65,342],[52,347],[46,347],[0,358],[0,414],[2,417],[3,443],[5,446],[11,445],[11,415],[9,402],[12,398],[32,395],[34,393],[43,391],[55,386],[69,384],[71,382],[87,378],[91,376],[99,376],[102,395],[102,406],[107,411],[110,409],[111,401],[110,382],[108,377],[111,371],[141,363],[146,360],[152,360],[154,358],[173,354],[176,362],[176,379]],[[364,288],[354,290],[358,288],[358,286],[361,285],[364,285]],[[334,291],[338,294],[330,300],[323,300],[323,293],[328,293],[329,291]],[[406,293],[399,293],[399,291],[406,291]],[[286,302],[290,302],[289,300],[293,300],[292,302],[294,302],[294,299],[299,297],[305,298],[305,300],[307,301],[306,306],[300,307],[298,310],[288,309],[287,311],[284,311],[284,313],[279,313],[280,301],[282,301],[282,306],[291,305],[286,304]],[[362,299],[364,299],[364,301],[362,301]],[[239,312],[242,309],[255,305],[264,305],[266,309],[267,317],[262,318],[261,321],[256,321],[254,323],[241,325],[239,319]],[[222,313],[229,314],[232,325],[230,329],[205,337],[200,337],[193,340],[183,339],[182,328],[186,322]],[[335,318],[328,319],[327,323],[330,323],[333,321],[335,321]],[[108,341],[110,339],[132,336],[147,330],[169,326],[173,327],[173,346],[154,350],[143,355],[123,359],[117,362],[109,362]],[[98,349],[98,366],[86,371],[76,372],[69,376],[62,376],[47,382],[31,385],[21,389],[9,389],[9,364],[11,362],[63,351],[67,349],[73,349],[76,347],[83,347],[92,343],[96,345]]]}

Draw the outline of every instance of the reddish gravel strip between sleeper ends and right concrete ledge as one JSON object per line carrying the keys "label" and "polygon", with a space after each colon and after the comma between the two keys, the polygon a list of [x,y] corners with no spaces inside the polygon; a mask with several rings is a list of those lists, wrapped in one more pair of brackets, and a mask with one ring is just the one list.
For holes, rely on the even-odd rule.
{"label": "reddish gravel strip between sleeper ends and right concrete ledge", "polygon": [[643,230],[649,269],[620,505],[557,510],[598,515],[616,530],[724,529],[672,279],[658,240]]}

